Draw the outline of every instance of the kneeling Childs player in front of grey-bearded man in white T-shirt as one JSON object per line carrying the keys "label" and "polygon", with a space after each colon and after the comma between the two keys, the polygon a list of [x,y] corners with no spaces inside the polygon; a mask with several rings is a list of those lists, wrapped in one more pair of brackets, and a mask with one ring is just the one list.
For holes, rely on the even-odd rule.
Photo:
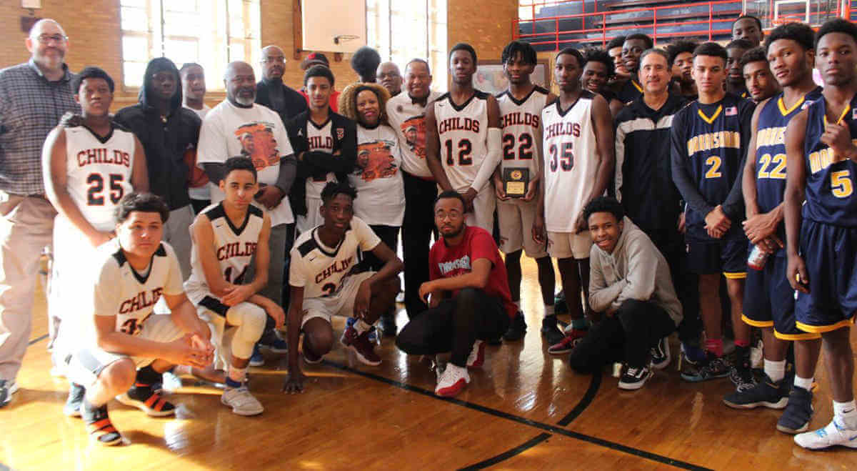
{"label": "kneeling Childs player in front of grey-bearded man in white T-shirt", "polygon": [[[283,308],[259,294],[267,285],[271,217],[252,204],[259,191],[256,176],[247,157],[226,160],[219,183],[223,201],[203,209],[190,228],[194,251],[185,283],[197,313],[214,327],[219,358],[229,365],[220,401],[238,415],[262,413],[261,403],[243,385],[247,365],[267,317],[278,328],[285,322]],[[255,278],[247,281],[253,257]]]}

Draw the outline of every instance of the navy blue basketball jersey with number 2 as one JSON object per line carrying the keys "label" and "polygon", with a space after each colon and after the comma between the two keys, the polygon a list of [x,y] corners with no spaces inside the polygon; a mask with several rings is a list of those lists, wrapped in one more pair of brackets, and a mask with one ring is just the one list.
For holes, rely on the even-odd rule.
{"label": "navy blue basketball jersey with number 2", "polygon": [[[750,100],[726,94],[713,104],[694,100],[675,114],[674,145],[682,147],[677,150],[687,159],[692,182],[711,206],[726,202],[741,173],[754,106]],[[705,214],[691,211],[687,218],[688,224],[699,223]]]}

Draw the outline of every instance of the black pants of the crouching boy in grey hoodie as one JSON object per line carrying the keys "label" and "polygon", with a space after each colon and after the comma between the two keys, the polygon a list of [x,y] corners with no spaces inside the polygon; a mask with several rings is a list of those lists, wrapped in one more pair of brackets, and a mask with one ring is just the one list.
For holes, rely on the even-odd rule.
{"label": "black pants of the crouching boy in grey hoodie", "polygon": [[648,365],[650,348],[674,330],[672,317],[660,306],[628,299],[613,316],[603,317],[589,329],[568,361],[572,368],[584,373],[600,371],[616,361],[639,368]]}

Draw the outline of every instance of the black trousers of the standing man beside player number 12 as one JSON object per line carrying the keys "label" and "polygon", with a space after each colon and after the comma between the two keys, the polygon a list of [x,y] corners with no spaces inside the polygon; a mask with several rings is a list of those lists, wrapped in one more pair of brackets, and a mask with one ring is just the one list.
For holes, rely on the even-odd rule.
{"label": "black trousers of the standing man beside player number 12", "polygon": [[428,250],[434,228],[437,184],[402,172],[405,180],[405,220],[402,221],[402,255],[405,257],[405,311],[417,317],[428,306],[420,299],[420,285],[428,281]]}

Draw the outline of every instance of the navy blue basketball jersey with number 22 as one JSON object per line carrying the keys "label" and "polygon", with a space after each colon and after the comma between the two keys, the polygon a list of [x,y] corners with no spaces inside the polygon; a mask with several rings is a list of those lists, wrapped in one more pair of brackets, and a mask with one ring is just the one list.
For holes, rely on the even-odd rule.
{"label": "navy blue basketball jersey with number 22", "polygon": [[[790,108],[787,108],[783,102],[783,94],[776,94],[758,113],[754,158],[756,160],[756,197],[759,211],[763,213],[768,213],[779,206],[786,190],[785,136],[788,121],[812,105],[813,101],[820,99],[821,90],[821,87],[815,88]],[[782,229],[782,223],[780,229]]]}

